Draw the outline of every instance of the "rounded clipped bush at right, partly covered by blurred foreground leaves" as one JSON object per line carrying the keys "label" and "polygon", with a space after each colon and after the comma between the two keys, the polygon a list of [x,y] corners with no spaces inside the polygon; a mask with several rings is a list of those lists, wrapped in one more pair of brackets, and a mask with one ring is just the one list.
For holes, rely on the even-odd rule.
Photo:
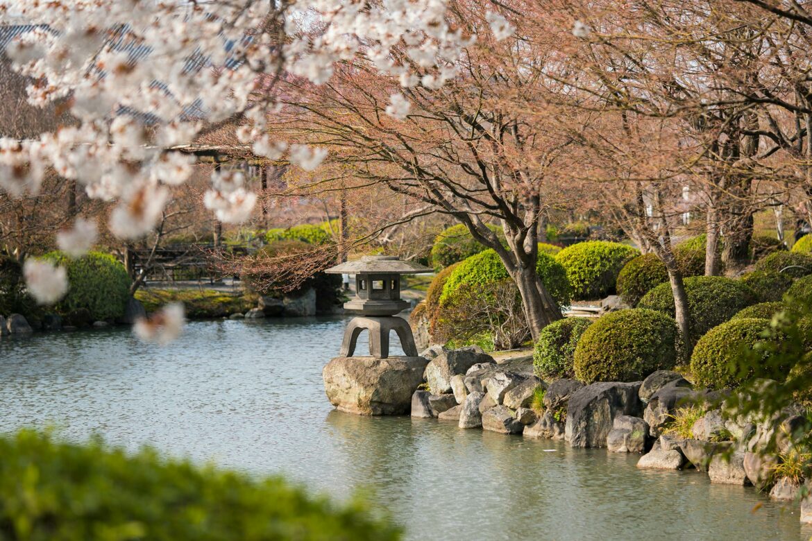
{"label": "rounded clipped bush at right, partly covered by blurred foreground leaves", "polygon": [[691,354],[693,383],[709,389],[736,388],[748,379],[741,374],[741,359],[761,339],[769,320],[742,318],[712,328],[699,339]]}

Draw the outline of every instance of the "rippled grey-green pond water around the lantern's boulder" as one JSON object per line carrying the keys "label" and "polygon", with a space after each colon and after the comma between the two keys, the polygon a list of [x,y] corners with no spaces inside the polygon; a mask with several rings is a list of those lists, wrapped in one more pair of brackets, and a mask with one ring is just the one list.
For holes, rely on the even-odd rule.
{"label": "rippled grey-green pond water around the lantern's boulder", "polygon": [[[408,539],[809,539],[797,505],[637,456],[434,419],[331,409],[322,367],[345,318],[188,324],[171,346],[127,329],[0,341],[0,432],[56,427],[344,498],[374,493]],[[360,344],[364,348],[364,344]],[[363,349],[361,349],[363,350]],[[757,504],[762,504],[755,509]]]}

